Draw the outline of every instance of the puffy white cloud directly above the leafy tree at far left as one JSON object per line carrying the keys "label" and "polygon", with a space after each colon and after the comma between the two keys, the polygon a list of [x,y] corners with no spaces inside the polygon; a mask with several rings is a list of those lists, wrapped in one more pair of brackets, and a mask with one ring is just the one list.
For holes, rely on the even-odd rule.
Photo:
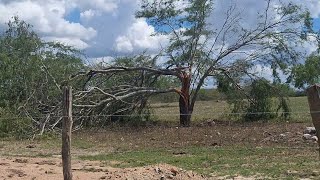
{"label": "puffy white cloud directly above the leafy tree at far left", "polygon": [[67,11],[66,3],[59,0],[44,1],[0,1],[0,22],[8,22],[11,17],[18,16],[30,23],[34,29],[47,40],[61,41],[77,48],[87,48],[97,31],[80,23],[64,19]]}

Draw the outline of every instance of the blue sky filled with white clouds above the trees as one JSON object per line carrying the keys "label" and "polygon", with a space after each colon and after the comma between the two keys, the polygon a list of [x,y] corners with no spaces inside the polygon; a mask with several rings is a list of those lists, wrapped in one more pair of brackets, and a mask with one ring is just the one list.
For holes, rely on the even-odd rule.
{"label": "blue sky filled with white clouds above the trees", "polygon": [[[309,8],[319,29],[320,0],[292,1]],[[219,23],[230,4],[236,4],[248,22],[254,22],[257,12],[264,8],[261,2],[264,0],[217,0],[214,23]],[[0,30],[18,15],[43,39],[75,46],[89,58],[156,51],[168,40],[150,36],[155,28],[134,17],[138,8],[139,0],[0,0]]]}

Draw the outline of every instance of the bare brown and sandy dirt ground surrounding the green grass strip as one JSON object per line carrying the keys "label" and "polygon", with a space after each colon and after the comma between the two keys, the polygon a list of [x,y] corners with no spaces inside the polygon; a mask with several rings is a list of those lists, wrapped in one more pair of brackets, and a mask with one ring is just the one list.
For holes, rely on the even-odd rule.
{"label": "bare brown and sandy dirt ground surrounding the green grass strip", "polygon": [[[186,146],[234,146],[254,147],[317,147],[314,142],[302,139],[303,130],[310,123],[282,124],[233,124],[225,122],[205,122],[190,128],[151,127],[126,130],[102,130],[74,133],[76,141],[91,142],[92,148],[73,147],[73,155],[139,150],[151,148],[181,148]],[[82,142],[82,141],[81,141]],[[76,142],[74,143],[77,144]],[[0,179],[63,179],[59,145],[49,148],[41,143],[31,142],[0,143]],[[83,145],[81,145],[83,146]],[[55,154],[40,158],[34,154]],[[208,179],[192,171],[167,164],[155,164],[137,168],[113,168],[102,162],[72,160],[73,179]],[[210,179],[225,179],[211,177]],[[233,177],[233,179],[254,179]]]}

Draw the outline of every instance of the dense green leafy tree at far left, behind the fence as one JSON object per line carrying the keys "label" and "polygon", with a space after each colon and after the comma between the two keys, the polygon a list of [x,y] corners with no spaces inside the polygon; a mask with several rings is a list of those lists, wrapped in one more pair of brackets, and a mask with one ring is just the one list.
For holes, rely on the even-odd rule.
{"label": "dense green leafy tree at far left, behind the fence", "polygon": [[61,82],[83,69],[83,63],[77,50],[42,41],[18,17],[7,25],[0,36],[0,108],[28,117],[42,133],[59,122]]}

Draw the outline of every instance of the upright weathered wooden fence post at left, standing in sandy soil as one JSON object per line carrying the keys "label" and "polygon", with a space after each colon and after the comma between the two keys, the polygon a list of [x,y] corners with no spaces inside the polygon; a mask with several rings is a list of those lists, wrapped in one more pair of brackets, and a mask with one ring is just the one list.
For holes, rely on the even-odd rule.
{"label": "upright weathered wooden fence post at left, standing in sandy soil", "polygon": [[63,88],[62,166],[64,180],[72,180],[71,172],[72,88]]}

